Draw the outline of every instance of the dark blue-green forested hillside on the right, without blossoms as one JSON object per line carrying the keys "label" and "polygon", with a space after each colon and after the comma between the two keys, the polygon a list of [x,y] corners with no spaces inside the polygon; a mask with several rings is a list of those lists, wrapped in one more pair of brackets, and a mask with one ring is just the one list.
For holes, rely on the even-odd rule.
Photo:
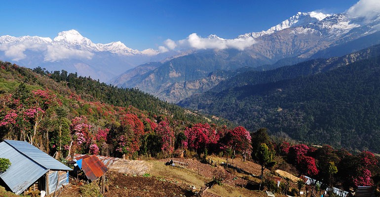
{"label": "dark blue-green forested hillside on the right, without blossoms", "polygon": [[379,46],[365,51],[345,56],[352,64],[342,57],[243,73],[180,105],[249,130],[266,127],[301,141],[380,152]]}

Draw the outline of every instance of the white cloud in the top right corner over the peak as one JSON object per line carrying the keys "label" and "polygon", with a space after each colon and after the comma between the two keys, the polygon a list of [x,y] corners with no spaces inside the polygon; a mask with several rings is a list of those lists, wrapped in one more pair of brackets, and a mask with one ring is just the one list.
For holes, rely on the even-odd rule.
{"label": "white cloud in the top right corner over the peak", "polygon": [[371,20],[380,14],[379,0],[359,0],[347,10],[350,17],[364,17]]}

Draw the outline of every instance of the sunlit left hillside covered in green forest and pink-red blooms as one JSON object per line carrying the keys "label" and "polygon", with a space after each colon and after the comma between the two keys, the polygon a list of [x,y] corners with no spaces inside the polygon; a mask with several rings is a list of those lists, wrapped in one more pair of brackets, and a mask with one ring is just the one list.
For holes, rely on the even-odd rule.
{"label": "sunlit left hillside covered in green forest and pink-red blooms", "polygon": [[222,121],[64,70],[0,66],[0,138],[26,140],[57,158],[171,154],[186,128],[200,124],[215,134]]}

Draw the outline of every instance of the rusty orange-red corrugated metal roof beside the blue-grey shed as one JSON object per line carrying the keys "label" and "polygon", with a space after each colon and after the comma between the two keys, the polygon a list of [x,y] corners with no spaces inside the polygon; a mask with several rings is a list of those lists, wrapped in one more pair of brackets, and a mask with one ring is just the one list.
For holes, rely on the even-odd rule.
{"label": "rusty orange-red corrugated metal roof beside the blue-grey shed", "polygon": [[106,173],[108,168],[95,155],[92,155],[83,158],[82,170],[89,180],[94,181]]}

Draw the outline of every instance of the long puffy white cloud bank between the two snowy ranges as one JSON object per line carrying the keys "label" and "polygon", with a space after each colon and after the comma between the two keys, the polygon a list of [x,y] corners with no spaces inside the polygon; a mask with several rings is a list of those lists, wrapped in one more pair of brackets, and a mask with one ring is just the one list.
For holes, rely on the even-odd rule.
{"label": "long puffy white cloud bank between the two snowy ranges", "polygon": [[207,38],[202,38],[196,33],[191,33],[186,39],[173,41],[167,39],[164,41],[165,46],[160,46],[160,51],[174,50],[177,48],[193,48],[193,49],[237,49],[244,50],[247,47],[255,44],[253,37],[224,39],[216,35],[210,35]]}

